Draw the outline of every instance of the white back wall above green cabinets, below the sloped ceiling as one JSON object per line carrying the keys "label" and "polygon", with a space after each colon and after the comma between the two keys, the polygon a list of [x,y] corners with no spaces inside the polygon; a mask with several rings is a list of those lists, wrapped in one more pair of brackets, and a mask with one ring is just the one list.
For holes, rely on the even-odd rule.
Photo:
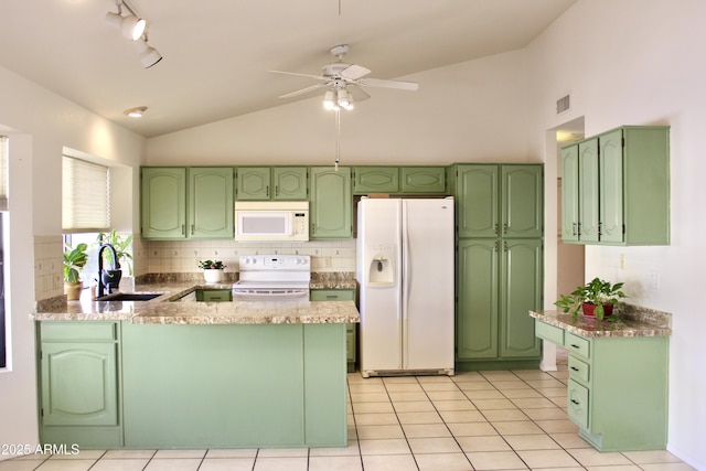
{"label": "white back wall above green cabinets, below the sloped ceiling", "polygon": [[[341,113],[341,164],[524,162],[522,51],[409,75],[418,92],[366,88]],[[332,164],[334,115],[323,95],[150,139],[161,164]]]}

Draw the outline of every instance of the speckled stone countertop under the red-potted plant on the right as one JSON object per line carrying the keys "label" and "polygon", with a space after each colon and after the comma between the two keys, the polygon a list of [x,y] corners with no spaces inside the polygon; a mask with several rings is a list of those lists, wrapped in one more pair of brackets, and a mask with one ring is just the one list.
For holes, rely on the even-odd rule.
{"label": "speckled stone countertop under the red-potted plant on the right", "polygon": [[530,311],[530,315],[585,338],[672,335],[672,314],[632,304],[621,304],[614,321],[598,321],[580,312],[576,320],[561,311]]}

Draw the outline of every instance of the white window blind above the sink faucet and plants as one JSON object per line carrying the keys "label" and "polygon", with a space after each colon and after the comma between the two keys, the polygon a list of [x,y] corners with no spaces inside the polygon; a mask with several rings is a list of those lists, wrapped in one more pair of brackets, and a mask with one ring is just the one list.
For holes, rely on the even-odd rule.
{"label": "white window blind above the sink faucet and plants", "polygon": [[64,156],[62,183],[64,233],[108,231],[110,227],[110,169]]}

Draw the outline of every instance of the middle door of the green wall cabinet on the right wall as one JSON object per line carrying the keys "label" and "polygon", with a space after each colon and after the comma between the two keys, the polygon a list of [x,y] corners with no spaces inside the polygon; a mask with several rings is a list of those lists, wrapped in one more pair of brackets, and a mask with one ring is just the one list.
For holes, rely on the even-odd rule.
{"label": "middle door of the green wall cabinet on the right wall", "polygon": [[598,242],[598,139],[588,139],[578,144],[578,205],[579,239]]}

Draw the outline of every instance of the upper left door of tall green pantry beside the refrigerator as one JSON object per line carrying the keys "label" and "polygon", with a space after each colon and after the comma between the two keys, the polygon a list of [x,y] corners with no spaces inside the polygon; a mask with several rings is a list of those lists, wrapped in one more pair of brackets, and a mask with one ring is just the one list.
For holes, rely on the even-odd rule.
{"label": "upper left door of tall green pantry beside the refrigerator", "polygon": [[496,237],[500,217],[498,165],[459,165],[457,175],[458,236]]}

